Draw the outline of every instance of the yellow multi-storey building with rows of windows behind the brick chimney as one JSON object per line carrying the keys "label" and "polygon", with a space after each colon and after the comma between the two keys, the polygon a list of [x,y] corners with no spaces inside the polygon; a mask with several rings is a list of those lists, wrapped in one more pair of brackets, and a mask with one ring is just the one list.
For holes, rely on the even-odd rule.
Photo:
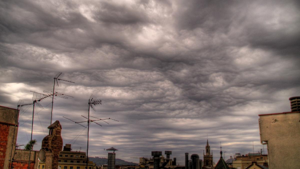
{"label": "yellow multi-storey building with rows of windows behind the brick chimney", "polygon": [[[63,151],[59,152],[58,166],[61,169],[86,169],[85,152],[71,151],[71,144],[66,144]],[[45,168],[45,163],[41,162],[38,169]],[[96,164],[88,161],[88,169],[95,169]]]}

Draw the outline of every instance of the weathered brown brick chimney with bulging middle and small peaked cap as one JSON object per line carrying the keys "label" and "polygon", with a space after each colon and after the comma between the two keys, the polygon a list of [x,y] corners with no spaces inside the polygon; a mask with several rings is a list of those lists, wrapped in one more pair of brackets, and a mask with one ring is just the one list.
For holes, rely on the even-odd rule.
{"label": "weathered brown brick chimney with bulging middle and small peaked cap", "polygon": [[58,169],[58,155],[62,150],[61,125],[56,120],[49,127],[49,135],[42,141],[45,150],[45,169]]}

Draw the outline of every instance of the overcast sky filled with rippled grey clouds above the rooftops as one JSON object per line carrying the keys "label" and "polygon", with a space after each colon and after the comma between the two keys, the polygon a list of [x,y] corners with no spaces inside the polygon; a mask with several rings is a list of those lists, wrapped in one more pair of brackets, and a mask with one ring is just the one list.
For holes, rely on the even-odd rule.
{"label": "overcast sky filled with rippled grey clouds above the rooftops", "polygon": [[[260,151],[258,114],[288,112],[300,95],[299,1],[90,0],[0,2],[0,105],[32,103],[32,92],[55,91],[53,120],[63,143],[89,156],[150,157],[172,151],[203,159],[206,139],[220,157]],[[48,134],[52,99],[34,117],[33,138]],[[20,111],[17,143],[30,140],[32,106]],[[86,123],[83,123],[86,126]],[[77,138],[78,137],[78,138]],[[267,152],[266,147],[264,147]]]}

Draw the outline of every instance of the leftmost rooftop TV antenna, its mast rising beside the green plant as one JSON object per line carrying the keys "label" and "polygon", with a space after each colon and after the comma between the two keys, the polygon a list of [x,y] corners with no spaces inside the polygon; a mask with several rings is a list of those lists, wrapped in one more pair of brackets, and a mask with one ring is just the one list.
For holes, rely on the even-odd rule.
{"label": "leftmost rooftop TV antenna, its mast rising beside the green plant", "polygon": [[[39,106],[40,108],[43,108],[43,106],[39,103],[41,100],[46,99],[47,97],[50,97],[52,95],[46,95],[46,94],[41,94],[41,93],[37,93],[35,91],[31,91],[33,92],[33,96],[32,96],[32,103],[27,103],[27,104],[23,104],[24,101],[23,100],[19,100],[18,105],[17,105],[17,109],[22,109],[22,106],[27,106],[27,105],[33,105],[32,108],[32,123],[31,123],[31,137],[30,137],[30,141],[32,141],[32,131],[33,131],[33,118],[34,118],[34,113],[35,113],[35,105]],[[32,147],[29,149],[29,159],[28,159],[28,169],[30,168],[30,155],[31,155],[31,149]]]}

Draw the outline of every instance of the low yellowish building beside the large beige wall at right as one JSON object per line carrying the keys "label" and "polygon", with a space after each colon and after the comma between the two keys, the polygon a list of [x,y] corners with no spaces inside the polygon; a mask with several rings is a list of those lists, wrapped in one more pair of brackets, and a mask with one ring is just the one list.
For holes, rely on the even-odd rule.
{"label": "low yellowish building beside the large beige wall at right", "polygon": [[259,165],[268,165],[268,155],[261,153],[248,153],[246,155],[236,156],[236,159],[232,161],[232,167],[236,169],[245,169],[249,167],[253,161],[256,161]]}

